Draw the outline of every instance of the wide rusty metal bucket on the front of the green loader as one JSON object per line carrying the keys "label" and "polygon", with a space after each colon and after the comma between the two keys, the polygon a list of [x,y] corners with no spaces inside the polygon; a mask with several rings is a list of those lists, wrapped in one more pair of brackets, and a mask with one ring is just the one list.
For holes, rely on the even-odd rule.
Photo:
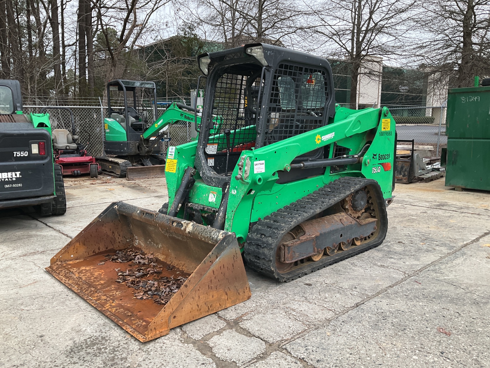
{"label": "wide rusty metal bucket on the front of the green loader", "polygon": [[[187,278],[165,305],[138,299],[135,288],[116,282],[134,263],[113,262],[111,255],[133,250],[152,255],[161,269],[138,282]],[[251,296],[234,234],[123,202],[102,211],[46,269],[142,342]]]}

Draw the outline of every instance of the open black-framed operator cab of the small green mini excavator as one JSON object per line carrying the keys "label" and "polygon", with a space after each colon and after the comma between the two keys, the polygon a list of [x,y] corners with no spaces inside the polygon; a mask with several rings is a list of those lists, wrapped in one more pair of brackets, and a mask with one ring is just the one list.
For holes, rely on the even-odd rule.
{"label": "open black-framed operator cab of the small green mini excavator", "polygon": [[[132,106],[131,100],[128,102],[128,92],[132,92]],[[150,110],[152,113],[156,111],[154,82],[116,79],[107,83],[108,117],[116,120],[128,133],[143,133],[148,126],[148,110],[142,99],[151,100],[153,106]]]}

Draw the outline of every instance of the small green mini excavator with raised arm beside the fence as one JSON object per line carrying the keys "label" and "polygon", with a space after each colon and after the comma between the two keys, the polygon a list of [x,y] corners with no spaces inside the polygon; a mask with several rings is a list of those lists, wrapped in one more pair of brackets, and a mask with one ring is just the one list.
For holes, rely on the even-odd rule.
{"label": "small green mini excavator with raised arm beside the fence", "polygon": [[[116,107],[112,94],[122,93],[122,105]],[[132,92],[132,105],[127,93]],[[150,107],[141,103],[147,95]],[[149,93],[148,93],[149,92]],[[200,112],[194,108],[172,103],[158,117],[154,82],[116,79],[107,83],[107,117],[104,119],[104,154],[97,162],[109,175],[128,179],[163,177],[165,157],[160,141],[168,135],[169,124],[200,123]],[[117,105],[117,104],[116,104]]]}

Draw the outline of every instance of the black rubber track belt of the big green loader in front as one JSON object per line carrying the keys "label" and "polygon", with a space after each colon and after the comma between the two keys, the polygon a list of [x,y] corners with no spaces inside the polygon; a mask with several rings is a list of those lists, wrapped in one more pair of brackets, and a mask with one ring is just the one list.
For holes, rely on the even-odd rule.
{"label": "black rubber track belt of the big green loader in front", "polygon": [[[276,264],[276,250],[283,238],[296,226],[315,218],[322,211],[340,204],[356,191],[365,188],[368,192],[367,212],[377,221],[377,229],[368,237],[352,242],[351,247],[333,255],[325,252],[316,262],[307,257],[294,263],[287,272],[280,272]],[[383,193],[372,179],[343,177],[308,194],[289,206],[259,220],[251,229],[245,243],[245,261],[248,267],[281,282],[289,282],[331,264],[343,261],[380,245],[386,237],[388,217]]]}

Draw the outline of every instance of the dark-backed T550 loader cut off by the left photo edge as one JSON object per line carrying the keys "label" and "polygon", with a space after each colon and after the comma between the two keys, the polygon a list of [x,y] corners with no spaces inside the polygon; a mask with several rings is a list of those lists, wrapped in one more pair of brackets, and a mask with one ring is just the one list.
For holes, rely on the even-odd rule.
{"label": "dark-backed T550 loader cut off by the left photo edge", "polygon": [[18,80],[0,80],[0,209],[66,212],[60,165],[53,162],[49,114],[24,114]]}

